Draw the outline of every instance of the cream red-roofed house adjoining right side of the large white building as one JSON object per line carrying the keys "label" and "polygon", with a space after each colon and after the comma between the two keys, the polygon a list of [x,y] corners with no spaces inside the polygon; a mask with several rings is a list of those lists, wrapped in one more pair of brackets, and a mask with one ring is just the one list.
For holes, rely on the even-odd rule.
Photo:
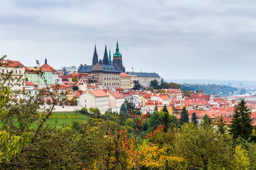
{"label": "cream red-roofed house adjoining right side of the large white building", "polygon": [[110,112],[119,113],[121,105],[125,102],[125,97],[116,91],[108,91]]}

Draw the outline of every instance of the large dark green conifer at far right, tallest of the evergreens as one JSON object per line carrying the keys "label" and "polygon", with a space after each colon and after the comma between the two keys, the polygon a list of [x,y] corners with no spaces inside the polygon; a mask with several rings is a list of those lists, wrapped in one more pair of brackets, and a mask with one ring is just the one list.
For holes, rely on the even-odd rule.
{"label": "large dark green conifer at far right, tallest of the evergreens", "polygon": [[238,106],[234,109],[232,125],[230,128],[230,133],[234,138],[241,137],[247,140],[253,131],[251,125],[252,119],[250,119],[251,110],[247,107],[246,102],[242,99]]}

